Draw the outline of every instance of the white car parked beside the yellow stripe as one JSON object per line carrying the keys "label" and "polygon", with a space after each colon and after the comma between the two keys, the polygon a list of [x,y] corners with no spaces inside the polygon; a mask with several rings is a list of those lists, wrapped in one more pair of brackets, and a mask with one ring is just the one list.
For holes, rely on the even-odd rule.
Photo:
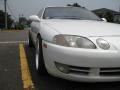
{"label": "white car parked beside the yellow stripe", "polygon": [[29,17],[36,70],[83,82],[120,81],[120,25],[81,7],[46,7]]}

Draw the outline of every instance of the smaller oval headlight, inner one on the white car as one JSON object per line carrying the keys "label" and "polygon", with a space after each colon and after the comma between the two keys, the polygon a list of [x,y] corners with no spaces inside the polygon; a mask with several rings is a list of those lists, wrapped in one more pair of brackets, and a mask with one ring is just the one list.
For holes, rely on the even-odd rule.
{"label": "smaller oval headlight, inner one on the white car", "polygon": [[109,43],[105,41],[104,39],[99,38],[96,40],[96,42],[101,49],[104,49],[104,50],[110,49]]}

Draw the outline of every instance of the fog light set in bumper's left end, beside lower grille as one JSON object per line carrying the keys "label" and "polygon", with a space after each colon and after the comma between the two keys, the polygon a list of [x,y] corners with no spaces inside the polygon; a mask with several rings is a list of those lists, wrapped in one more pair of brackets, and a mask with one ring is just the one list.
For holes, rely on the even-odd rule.
{"label": "fog light set in bumper's left end, beside lower grille", "polygon": [[69,66],[55,62],[57,69],[65,74],[69,73]]}

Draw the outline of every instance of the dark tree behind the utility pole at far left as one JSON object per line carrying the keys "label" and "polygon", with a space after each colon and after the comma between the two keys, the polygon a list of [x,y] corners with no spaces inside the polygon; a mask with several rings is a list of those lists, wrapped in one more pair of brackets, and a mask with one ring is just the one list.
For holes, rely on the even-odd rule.
{"label": "dark tree behind the utility pole at far left", "polygon": [[[11,15],[7,13],[7,21],[8,21],[8,29],[11,28],[13,19],[11,18]],[[0,10],[0,28],[3,29],[5,28],[5,12]]]}

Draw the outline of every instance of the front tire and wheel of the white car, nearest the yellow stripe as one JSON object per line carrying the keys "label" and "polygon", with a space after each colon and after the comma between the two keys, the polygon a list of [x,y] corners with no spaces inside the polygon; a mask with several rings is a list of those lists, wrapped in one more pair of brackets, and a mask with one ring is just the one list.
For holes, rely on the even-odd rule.
{"label": "front tire and wheel of the white car, nearest the yellow stripe", "polygon": [[38,36],[36,40],[35,66],[39,74],[47,74],[42,52],[42,39],[40,36]]}

